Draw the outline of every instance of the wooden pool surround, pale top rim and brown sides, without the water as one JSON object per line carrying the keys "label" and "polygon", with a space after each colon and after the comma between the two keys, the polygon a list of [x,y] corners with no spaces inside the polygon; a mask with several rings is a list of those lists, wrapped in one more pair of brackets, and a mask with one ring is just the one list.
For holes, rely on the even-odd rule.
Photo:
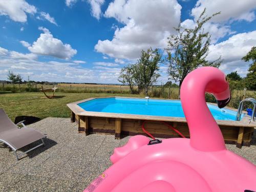
{"label": "wooden pool surround, pale top rim and brown sides, without the water", "polygon": [[[141,129],[141,125],[143,121],[147,120],[147,122],[145,123],[145,129],[152,135],[154,135],[154,137],[179,137],[176,132],[169,129],[161,122],[164,121],[176,127],[186,138],[189,138],[189,130],[185,118],[89,112],[80,108],[80,106],[77,105],[78,103],[89,101],[92,99],[97,98],[89,98],[67,104],[67,106],[71,110],[71,121],[77,122],[79,133],[84,133],[86,135],[93,133],[110,134],[115,135],[116,139],[120,139],[122,136],[127,135],[145,135],[145,133]],[[215,103],[209,104],[216,105]],[[237,112],[237,110],[233,108],[227,109]],[[237,144],[237,147],[239,148],[241,148],[242,145],[250,146],[254,127],[256,127],[256,122],[250,121],[250,116],[244,115],[241,121],[216,121],[221,129],[225,143]]]}

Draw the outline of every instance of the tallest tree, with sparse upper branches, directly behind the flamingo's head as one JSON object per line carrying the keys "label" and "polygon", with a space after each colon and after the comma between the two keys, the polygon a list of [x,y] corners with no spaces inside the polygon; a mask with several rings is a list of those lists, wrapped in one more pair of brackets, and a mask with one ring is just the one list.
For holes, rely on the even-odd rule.
{"label": "tallest tree, with sparse upper branches, directly behind the flamingo's head", "polygon": [[177,34],[168,37],[167,65],[170,79],[179,82],[179,88],[186,75],[194,69],[202,66],[219,67],[221,56],[214,61],[207,61],[210,45],[210,34],[205,32],[203,25],[220,12],[205,16],[205,11],[197,19],[194,29],[183,29],[180,25],[176,29]]}

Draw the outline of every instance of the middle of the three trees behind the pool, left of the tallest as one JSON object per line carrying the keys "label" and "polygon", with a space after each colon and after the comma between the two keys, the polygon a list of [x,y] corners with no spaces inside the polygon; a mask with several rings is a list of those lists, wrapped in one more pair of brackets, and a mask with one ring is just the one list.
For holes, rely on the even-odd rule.
{"label": "middle of the three trees behind the pool, left of the tallest", "polygon": [[148,95],[148,89],[160,77],[159,64],[161,62],[162,54],[158,49],[147,51],[142,50],[141,56],[134,68],[134,78],[139,87],[142,87],[145,95]]}

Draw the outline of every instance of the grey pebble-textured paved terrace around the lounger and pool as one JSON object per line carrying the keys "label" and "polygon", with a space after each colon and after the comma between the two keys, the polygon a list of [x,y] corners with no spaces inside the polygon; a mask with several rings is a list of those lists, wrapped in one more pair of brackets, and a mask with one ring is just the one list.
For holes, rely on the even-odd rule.
{"label": "grey pebble-textured paved terrace around the lounger and pool", "polygon": [[[16,161],[9,148],[0,144],[0,191],[82,191],[111,166],[109,158],[114,148],[129,139],[78,134],[76,124],[66,118],[46,118],[29,126],[47,134],[46,146]],[[227,148],[256,164],[255,135],[254,131],[250,147],[239,149],[227,145]]]}

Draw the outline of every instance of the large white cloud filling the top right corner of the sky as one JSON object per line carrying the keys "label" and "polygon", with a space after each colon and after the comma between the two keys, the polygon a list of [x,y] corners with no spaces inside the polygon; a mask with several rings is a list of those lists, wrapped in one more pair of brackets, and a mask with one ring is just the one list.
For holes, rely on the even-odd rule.
{"label": "large white cloud filling the top right corner of the sky", "polygon": [[236,33],[236,31],[230,29],[230,23],[234,20],[247,20],[251,22],[255,18],[253,9],[256,8],[256,4],[255,0],[198,0],[196,6],[191,10],[191,16],[194,17],[194,20],[186,19],[181,23],[181,26],[194,28],[196,20],[204,8],[206,8],[206,15],[208,16],[221,12],[221,14],[212,17],[210,22],[204,25],[204,30],[211,34],[212,42],[216,43],[220,38]]}

